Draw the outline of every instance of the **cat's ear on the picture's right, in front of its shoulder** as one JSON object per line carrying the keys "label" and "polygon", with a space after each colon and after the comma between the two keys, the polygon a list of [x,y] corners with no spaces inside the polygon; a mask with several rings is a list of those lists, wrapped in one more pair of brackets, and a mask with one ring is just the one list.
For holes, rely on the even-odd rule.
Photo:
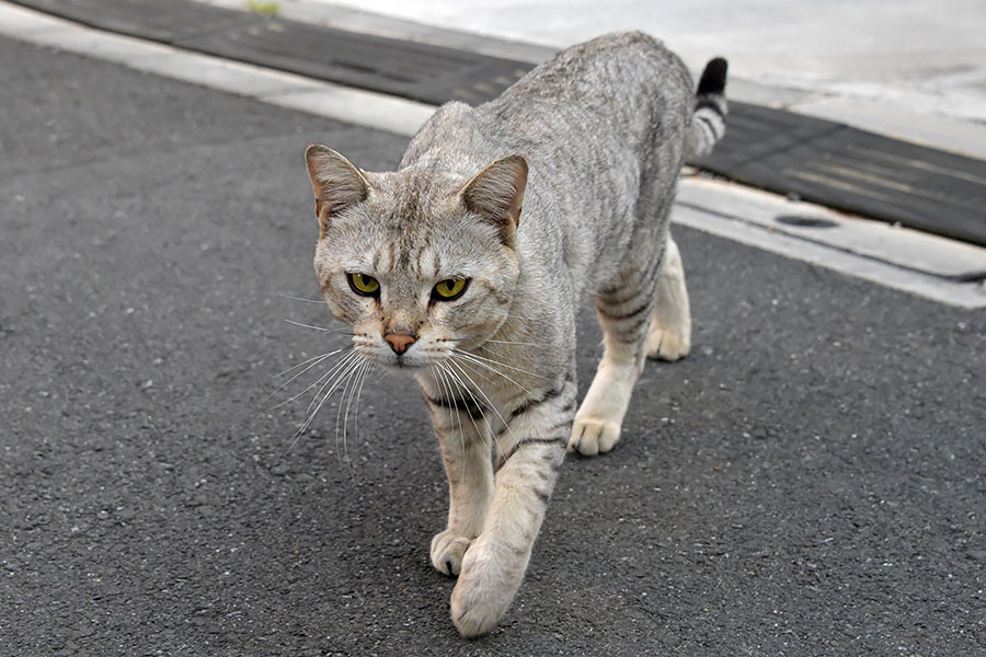
{"label": "cat's ear on the picture's right, in front of its shoulder", "polygon": [[501,229],[505,244],[512,244],[520,222],[520,205],[527,186],[527,160],[513,154],[496,160],[462,187],[466,207]]}

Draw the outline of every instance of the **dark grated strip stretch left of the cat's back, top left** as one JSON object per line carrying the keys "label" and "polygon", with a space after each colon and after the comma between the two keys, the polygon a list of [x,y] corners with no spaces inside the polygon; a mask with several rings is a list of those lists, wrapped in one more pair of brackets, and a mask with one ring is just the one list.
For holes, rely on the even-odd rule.
{"label": "dark grated strip stretch left of the cat's back, top left", "polygon": [[91,27],[440,105],[479,104],[532,65],[273,19],[194,0],[14,0]]}

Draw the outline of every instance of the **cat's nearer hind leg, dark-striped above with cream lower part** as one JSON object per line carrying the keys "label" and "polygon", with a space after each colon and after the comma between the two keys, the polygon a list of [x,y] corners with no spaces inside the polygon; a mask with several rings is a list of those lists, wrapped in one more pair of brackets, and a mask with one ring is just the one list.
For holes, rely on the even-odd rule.
{"label": "cat's nearer hind leg, dark-striped above with cream lower part", "polygon": [[[641,260],[644,257],[641,255]],[[618,277],[618,285],[596,296],[603,360],[575,414],[570,452],[592,457],[608,452],[620,439],[630,395],[646,359],[655,306],[660,254],[650,254],[649,260],[642,266],[631,262]]]}

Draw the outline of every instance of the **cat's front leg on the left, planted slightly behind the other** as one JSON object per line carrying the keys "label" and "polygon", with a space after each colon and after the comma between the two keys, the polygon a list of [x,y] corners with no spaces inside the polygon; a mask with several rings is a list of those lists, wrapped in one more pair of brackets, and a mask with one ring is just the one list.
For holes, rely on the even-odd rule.
{"label": "cat's front leg on the left, planted slightly behind the other", "polygon": [[448,523],[432,539],[432,565],[454,576],[482,530],[493,496],[492,434],[486,410],[468,392],[440,378],[421,383],[448,476]]}

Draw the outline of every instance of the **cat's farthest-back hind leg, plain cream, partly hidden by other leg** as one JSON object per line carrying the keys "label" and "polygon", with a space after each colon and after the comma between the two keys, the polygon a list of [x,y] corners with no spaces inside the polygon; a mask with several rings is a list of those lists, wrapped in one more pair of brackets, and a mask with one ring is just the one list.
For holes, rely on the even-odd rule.
{"label": "cat's farthest-back hind leg, plain cream, partly hidden by other leg", "polygon": [[681,254],[675,241],[667,238],[664,263],[657,277],[657,295],[647,333],[647,356],[677,360],[691,350],[691,310]]}

